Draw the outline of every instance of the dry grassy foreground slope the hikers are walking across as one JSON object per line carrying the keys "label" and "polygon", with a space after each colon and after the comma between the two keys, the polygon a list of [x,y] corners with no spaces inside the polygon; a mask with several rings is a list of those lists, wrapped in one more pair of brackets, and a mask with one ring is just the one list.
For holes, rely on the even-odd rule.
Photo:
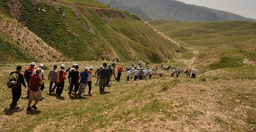
{"label": "dry grassy foreground slope the hikers are walking across", "polygon": [[[81,67],[98,67],[101,63],[78,62]],[[60,66],[60,63],[54,64]],[[45,66],[52,67],[53,63]],[[47,80],[44,99],[37,104],[39,110],[28,112],[25,110],[28,99],[24,89],[18,107],[8,109],[12,97],[3,82],[14,68],[14,65],[0,67],[2,131],[249,132],[256,125],[256,92],[251,85],[256,82],[255,79],[249,80],[254,77],[251,73],[255,67],[230,69],[237,70],[236,73],[222,70],[214,76],[204,75],[194,80],[181,74],[180,78],[157,79],[153,76],[150,81],[125,82],[125,74],[122,74],[122,82],[113,82],[111,87],[106,88],[107,94],[100,95],[99,86],[93,85],[93,96],[83,96],[82,99],[69,98],[67,91],[63,92],[62,98],[48,95]],[[46,75],[48,72],[45,70]],[[169,76],[170,72],[164,71],[163,77]],[[203,78],[207,81],[202,81]],[[65,83],[65,89],[67,85]],[[31,120],[34,122],[31,123]]]}

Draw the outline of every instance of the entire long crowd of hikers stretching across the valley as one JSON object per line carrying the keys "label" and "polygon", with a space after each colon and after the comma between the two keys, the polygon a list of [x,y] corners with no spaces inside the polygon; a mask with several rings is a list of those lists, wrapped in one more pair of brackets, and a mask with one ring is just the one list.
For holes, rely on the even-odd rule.
{"label": "entire long crowd of hikers stretching across the valley", "polygon": [[[163,66],[161,64],[161,72],[157,73],[158,64],[149,68],[149,63],[145,63],[145,68],[143,68],[143,62],[139,61],[138,65],[135,65],[134,62],[131,63],[131,66],[127,64],[124,67],[124,64],[120,66],[116,66],[115,63],[112,65],[107,65],[107,63],[103,63],[102,66],[97,68],[95,71],[95,75],[93,74],[92,66],[85,66],[83,70],[79,71],[79,65],[73,64],[71,67],[65,70],[65,65],[62,64],[60,69],[57,69],[57,65],[54,65],[53,69],[49,71],[48,77],[45,77],[43,68],[44,65],[40,64],[37,68],[35,67],[35,62],[30,64],[30,67],[26,68],[24,73],[21,73],[22,66],[18,65],[16,67],[16,71],[12,71],[9,75],[7,86],[12,88],[12,103],[10,107],[16,107],[18,100],[21,97],[21,85],[27,88],[27,95],[29,97],[28,107],[26,110],[37,109],[36,104],[42,98],[42,91],[45,88],[44,80],[48,79],[50,81],[49,84],[49,94],[52,95],[56,89],[56,96],[60,97],[63,93],[65,80],[68,81],[68,96],[77,95],[78,98],[82,98],[82,94],[85,93],[85,87],[88,85],[88,95],[91,96],[92,89],[92,79],[96,77],[95,85],[99,85],[100,94],[105,93],[105,87],[110,85],[112,82],[112,77],[114,77],[115,81],[120,82],[120,77],[122,73],[126,73],[126,81],[130,82],[131,79],[133,81],[137,80],[147,80],[151,79],[151,77],[159,76],[162,77],[164,71],[171,70],[171,77],[176,74],[176,77],[179,77],[179,74],[183,73],[183,69],[174,68],[174,66]],[[125,68],[125,70],[124,70]],[[117,72],[117,76],[116,76]],[[192,69],[192,66],[186,69],[185,77],[195,78],[198,74],[196,67]],[[27,82],[27,84],[25,83]],[[73,90],[74,89],[74,90]],[[35,103],[31,106],[32,101],[36,99]]]}

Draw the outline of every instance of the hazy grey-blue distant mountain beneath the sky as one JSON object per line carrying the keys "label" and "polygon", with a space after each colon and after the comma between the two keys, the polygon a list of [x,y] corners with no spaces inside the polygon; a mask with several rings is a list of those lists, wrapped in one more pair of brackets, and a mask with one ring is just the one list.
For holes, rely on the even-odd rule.
{"label": "hazy grey-blue distant mountain beneath the sky", "polygon": [[[176,0],[97,0],[109,6],[125,10],[126,7],[138,7],[152,19],[168,19],[188,22],[219,22],[219,21],[256,21],[234,13],[210,9],[203,6],[189,5]],[[128,10],[126,10],[128,11]],[[132,13],[142,17],[137,11]],[[144,17],[142,19],[146,20]]]}

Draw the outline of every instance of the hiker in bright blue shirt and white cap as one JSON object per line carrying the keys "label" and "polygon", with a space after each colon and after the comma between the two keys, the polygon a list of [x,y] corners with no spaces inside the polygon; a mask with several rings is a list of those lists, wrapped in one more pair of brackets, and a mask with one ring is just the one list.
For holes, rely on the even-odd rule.
{"label": "hiker in bright blue shirt and white cap", "polygon": [[78,81],[80,80],[80,88],[78,89],[78,98],[82,98],[82,94],[85,92],[85,87],[88,83],[88,66],[84,67],[84,71],[81,71],[79,77],[78,77]]}

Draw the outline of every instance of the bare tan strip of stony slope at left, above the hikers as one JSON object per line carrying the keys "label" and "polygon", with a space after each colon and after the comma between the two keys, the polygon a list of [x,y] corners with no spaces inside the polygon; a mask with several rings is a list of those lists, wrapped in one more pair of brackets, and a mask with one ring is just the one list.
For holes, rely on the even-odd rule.
{"label": "bare tan strip of stony slope at left, above the hikers", "polygon": [[54,62],[65,61],[64,55],[50,47],[41,38],[11,19],[0,19],[0,30],[17,42],[23,49],[29,51],[38,60]]}

